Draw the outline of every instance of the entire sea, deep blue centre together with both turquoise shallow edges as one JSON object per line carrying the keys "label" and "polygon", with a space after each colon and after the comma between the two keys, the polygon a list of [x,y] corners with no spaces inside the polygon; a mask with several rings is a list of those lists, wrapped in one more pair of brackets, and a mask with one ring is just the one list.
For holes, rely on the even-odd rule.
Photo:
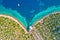
{"label": "entire sea, deep blue centre together with both turquoise shallow edges", "polygon": [[0,0],[0,14],[14,17],[27,30],[44,16],[59,11],[60,0]]}

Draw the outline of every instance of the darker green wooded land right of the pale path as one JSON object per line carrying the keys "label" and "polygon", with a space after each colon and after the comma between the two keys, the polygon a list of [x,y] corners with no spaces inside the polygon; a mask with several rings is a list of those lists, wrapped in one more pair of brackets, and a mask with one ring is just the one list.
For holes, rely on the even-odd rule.
{"label": "darker green wooded land right of the pale path", "polygon": [[44,40],[60,40],[60,13],[50,14],[35,28]]}

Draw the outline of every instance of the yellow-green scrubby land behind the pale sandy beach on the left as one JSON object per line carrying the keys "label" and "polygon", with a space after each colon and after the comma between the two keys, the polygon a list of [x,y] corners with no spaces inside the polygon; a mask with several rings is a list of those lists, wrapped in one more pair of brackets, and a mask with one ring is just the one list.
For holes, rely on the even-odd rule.
{"label": "yellow-green scrubby land behind the pale sandy beach on the left", "polygon": [[0,40],[34,40],[32,34],[25,33],[15,21],[0,17]]}

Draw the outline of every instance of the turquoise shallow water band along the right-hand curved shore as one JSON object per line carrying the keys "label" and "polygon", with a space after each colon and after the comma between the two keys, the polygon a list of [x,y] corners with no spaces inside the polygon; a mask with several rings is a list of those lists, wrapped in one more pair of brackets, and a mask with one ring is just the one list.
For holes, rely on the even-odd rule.
{"label": "turquoise shallow water band along the right-hand curved shore", "polygon": [[51,14],[52,12],[60,12],[60,6],[52,6],[42,12],[37,13],[37,15],[35,15],[35,17],[30,22],[30,24],[33,25],[36,21],[42,19],[44,16],[48,14]]}

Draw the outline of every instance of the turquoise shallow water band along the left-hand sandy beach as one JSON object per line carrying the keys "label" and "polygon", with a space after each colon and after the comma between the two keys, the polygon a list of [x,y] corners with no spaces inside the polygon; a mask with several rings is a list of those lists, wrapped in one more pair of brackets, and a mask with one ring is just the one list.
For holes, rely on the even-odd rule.
{"label": "turquoise shallow water band along the left-hand sandy beach", "polygon": [[25,28],[27,28],[27,22],[24,17],[22,17],[16,10],[6,9],[0,5],[0,14],[9,15],[17,19]]}

